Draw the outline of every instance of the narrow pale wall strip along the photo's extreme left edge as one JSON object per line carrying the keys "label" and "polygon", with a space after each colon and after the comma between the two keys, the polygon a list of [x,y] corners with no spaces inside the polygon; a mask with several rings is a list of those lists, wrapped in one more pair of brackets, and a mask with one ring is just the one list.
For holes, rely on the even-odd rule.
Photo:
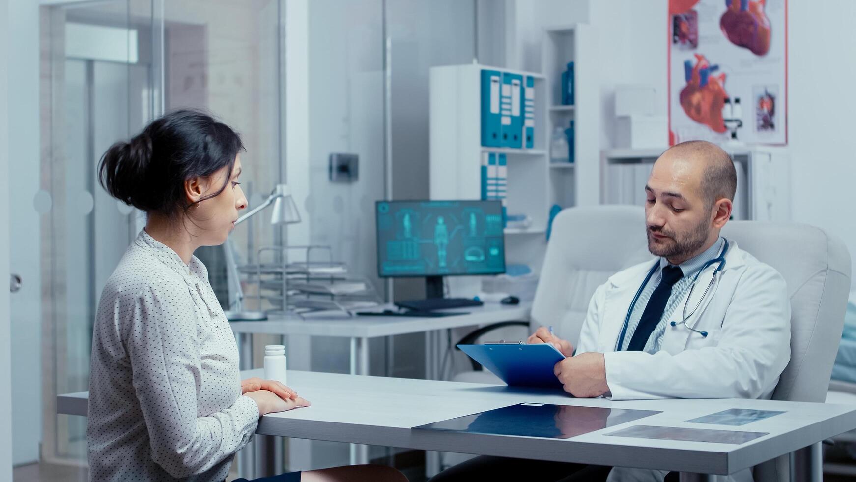
{"label": "narrow pale wall strip along the photo's extreme left edge", "polygon": [[[9,192],[9,2],[0,0],[0,193]],[[9,279],[9,204],[0,203],[0,280]],[[0,480],[12,479],[12,358],[9,291],[0,283]]]}

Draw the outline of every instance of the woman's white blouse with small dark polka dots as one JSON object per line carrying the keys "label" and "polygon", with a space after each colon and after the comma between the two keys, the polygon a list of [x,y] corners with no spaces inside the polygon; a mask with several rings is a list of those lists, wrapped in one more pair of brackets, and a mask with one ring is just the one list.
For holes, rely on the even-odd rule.
{"label": "woman's white blouse with small dark polka dots", "polygon": [[259,421],[205,265],[145,229],[101,294],[88,416],[92,480],[223,480]]}

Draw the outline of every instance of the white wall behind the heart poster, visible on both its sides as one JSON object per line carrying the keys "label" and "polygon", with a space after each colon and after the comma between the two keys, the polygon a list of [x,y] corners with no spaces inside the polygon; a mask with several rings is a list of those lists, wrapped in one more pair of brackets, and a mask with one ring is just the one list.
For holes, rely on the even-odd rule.
{"label": "white wall behind the heart poster, visible on both its sides", "polygon": [[[591,1],[588,21],[600,36],[603,131],[601,147],[614,145],[615,85],[657,88],[667,110],[666,0]],[[792,220],[827,229],[856,254],[856,24],[852,0],[788,2],[788,150]]]}

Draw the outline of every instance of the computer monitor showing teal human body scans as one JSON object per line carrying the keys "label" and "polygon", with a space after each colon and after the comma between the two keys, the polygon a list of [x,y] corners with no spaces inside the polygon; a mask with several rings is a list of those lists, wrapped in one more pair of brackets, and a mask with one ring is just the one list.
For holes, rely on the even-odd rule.
{"label": "computer monitor showing teal human body scans", "polygon": [[428,298],[444,276],[505,272],[502,202],[377,201],[377,274],[425,277]]}

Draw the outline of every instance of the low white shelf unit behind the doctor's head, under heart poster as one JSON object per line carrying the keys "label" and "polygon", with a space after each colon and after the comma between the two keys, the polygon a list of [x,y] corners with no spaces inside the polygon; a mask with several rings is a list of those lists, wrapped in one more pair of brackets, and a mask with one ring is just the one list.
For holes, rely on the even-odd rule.
{"label": "low white shelf unit behind the doctor's head, under heart poster", "polygon": [[[790,221],[788,150],[776,146],[723,146],[737,169],[734,219]],[[645,181],[667,149],[606,149],[601,155],[601,202],[645,204]]]}

